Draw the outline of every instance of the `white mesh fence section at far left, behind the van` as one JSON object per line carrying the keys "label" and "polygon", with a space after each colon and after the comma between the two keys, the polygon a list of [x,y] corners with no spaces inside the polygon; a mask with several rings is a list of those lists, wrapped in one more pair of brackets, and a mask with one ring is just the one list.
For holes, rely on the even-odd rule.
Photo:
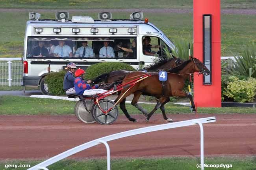
{"label": "white mesh fence section at far left, behind the van", "polygon": [[21,58],[0,58],[0,86],[20,86],[22,74]]}

